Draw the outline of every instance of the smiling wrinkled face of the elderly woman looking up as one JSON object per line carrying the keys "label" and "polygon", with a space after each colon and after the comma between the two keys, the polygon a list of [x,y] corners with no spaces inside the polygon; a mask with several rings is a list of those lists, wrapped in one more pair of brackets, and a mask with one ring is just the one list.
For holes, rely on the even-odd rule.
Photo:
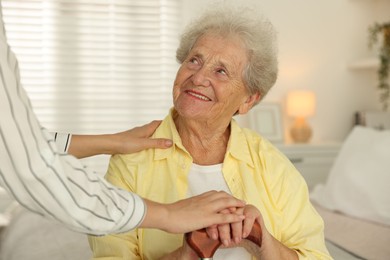
{"label": "smiling wrinkled face of the elderly woman looking up", "polygon": [[[230,122],[253,103],[242,79],[247,53],[233,36],[205,34],[179,68],[173,103],[179,115],[197,120]],[[256,95],[258,96],[258,95]]]}

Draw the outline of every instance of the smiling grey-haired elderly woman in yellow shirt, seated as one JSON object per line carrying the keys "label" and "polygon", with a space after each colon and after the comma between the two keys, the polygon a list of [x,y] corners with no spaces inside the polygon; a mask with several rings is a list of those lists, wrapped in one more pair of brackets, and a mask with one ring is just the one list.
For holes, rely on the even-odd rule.
{"label": "smiling grey-haired elderly woman in yellow shirt, seated", "polygon": [[[224,244],[214,259],[330,259],[323,221],[301,175],[270,142],[232,118],[247,113],[275,83],[275,49],[273,27],[258,14],[241,9],[205,13],[181,37],[174,108],[153,136],[172,139],[174,145],[110,161],[110,182],[154,201],[208,190],[245,200],[247,206],[238,209],[246,216],[243,223],[209,230]],[[254,221],[263,230],[261,248],[242,240]],[[183,235],[159,230],[89,241],[95,259],[197,259]]]}

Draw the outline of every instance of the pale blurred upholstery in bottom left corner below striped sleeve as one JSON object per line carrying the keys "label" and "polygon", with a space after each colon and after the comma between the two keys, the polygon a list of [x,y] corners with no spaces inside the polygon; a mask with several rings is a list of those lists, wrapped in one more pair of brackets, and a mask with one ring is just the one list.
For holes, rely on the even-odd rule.
{"label": "pale blurred upholstery in bottom left corner below striped sleeve", "polygon": [[86,260],[92,256],[86,235],[19,206],[0,236],[1,260]]}

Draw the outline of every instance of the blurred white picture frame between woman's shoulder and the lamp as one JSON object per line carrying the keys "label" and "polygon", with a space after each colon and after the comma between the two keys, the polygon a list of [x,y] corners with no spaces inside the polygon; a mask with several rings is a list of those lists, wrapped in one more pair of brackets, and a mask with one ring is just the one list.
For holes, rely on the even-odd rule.
{"label": "blurred white picture frame between woman's shoulder and the lamp", "polygon": [[283,142],[282,112],[278,103],[260,103],[249,112],[250,127],[271,142]]}

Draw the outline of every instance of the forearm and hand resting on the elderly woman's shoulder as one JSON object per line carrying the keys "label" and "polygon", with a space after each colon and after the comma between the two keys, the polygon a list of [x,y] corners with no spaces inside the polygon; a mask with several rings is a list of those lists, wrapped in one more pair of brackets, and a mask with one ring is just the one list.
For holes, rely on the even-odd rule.
{"label": "forearm and hand resting on the elderly woman's shoulder", "polygon": [[[161,121],[153,121],[149,124],[133,129],[102,135],[58,135],[64,152],[68,152],[77,158],[84,158],[98,154],[125,154],[135,153],[148,148],[168,148],[172,141],[168,139],[149,138]],[[56,138],[55,138],[56,139]],[[56,142],[58,142],[56,140]],[[69,148],[68,148],[69,146]],[[68,149],[67,149],[68,148]]]}

